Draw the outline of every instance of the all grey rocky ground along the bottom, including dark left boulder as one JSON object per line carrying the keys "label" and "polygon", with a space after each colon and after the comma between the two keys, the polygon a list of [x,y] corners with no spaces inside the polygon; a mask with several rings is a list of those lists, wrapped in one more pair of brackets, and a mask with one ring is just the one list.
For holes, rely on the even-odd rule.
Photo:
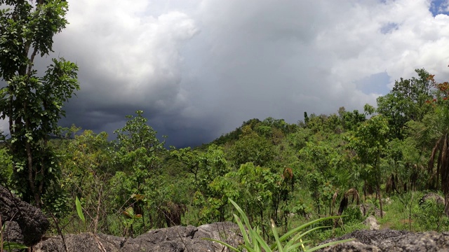
{"label": "all grey rocky ground along the bottom, including dark left boulder", "polygon": [[[239,228],[230,222],[212,223],[194,227],[177,226],[151,230],[139,237],[124,238],[112,235],[82,233],[42,239],[49,223],[39,209],[35,209],[14,197],[0,186],[0,216],[6,229],[4,241],[13,241],[32,246],[32,251],[48,252],[125,252],[125,251],[163,251],[163,252],[224,252],[226,247],[217,239],[237,246],[242,240]],[[322,251],[448,251],[449,232],[413,233],[398,230],[377,230],[375,218],[368,218],[366,225],[370,230],[356,230],[333,240],[354,238],[344,244],[337,244]],[[328,240],[328,241],[333,241]],[[325,242],[328,242],[325,241]]]}

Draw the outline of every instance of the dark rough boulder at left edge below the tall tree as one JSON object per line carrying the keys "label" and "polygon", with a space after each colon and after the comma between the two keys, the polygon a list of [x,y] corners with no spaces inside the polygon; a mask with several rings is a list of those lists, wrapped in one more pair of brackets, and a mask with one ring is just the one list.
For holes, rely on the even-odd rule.
{"label": "dark rough boulder at left edge below the tall tree", "polygon": [[[2,222],[12,221],[18,224],[18,227],[11,224],[12,233],[7,233],[8,239],[11,240],[5,239],[5,241],[21,240],[21,243],[27,246],[32,246],[40,241],[50,226],[40,209],[22,202],[2,186],[0,186],[0,216]],[[20,230],[20,235],[17,235],[18,230]]]}

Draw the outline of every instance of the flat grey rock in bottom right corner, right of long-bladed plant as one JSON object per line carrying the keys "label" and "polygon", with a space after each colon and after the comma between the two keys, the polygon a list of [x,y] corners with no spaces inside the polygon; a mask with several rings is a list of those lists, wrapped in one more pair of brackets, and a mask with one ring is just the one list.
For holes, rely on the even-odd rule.
{"label": "flat grey rock in bottom right corner, right of long-bladed plant", "polygon": [[328,241],[350,238],[355,240],[324,248],[323,251],[449,251],[449,232],[413,233],[389,229],[356,230]]}

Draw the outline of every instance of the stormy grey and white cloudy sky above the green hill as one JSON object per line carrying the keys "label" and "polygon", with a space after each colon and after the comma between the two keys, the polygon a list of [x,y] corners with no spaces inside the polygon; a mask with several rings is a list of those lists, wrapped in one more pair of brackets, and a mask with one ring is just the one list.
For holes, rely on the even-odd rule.
{"label": "stormy grey and white cloudy sky above the green hill", "polygon": [[62,125],[123,127],[136,110],[169,145],[250,118],[363,110],[424,68],[449,79],[449,0],[69,0],[56,57],[79,64]]}

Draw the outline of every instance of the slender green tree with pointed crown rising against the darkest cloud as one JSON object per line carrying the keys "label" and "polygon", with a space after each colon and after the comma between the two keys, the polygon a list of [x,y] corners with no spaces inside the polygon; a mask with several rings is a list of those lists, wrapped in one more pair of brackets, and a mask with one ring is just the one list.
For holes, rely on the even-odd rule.
{"label": "slender green tree with pointed crown rising against the darkest cloud", "polygon": [[[165,200],[166,195],[159,191],[165,181],[161,181],[157,175],[161,172],[161,158],[167,150],[164,148],[165,141],[159,141],[157,132],[147,125],[148,120],[142,116],[143,111],[135,113],[137,116],[126,116],[126,125],[114,131],[117,135],[115,162],[118,172],[110,182],[111,185],[115,184],[112,188],[115,206],[120,209],[127,203],[132,204],[133,213],[142,215],[145,229],[145,216],[154,224],[161,213],[154,209],[159,210]],[[140,197],[133,195],[145,197],[142,196],[140,200]],[[145,210],[148,214],[145,214]]]}

